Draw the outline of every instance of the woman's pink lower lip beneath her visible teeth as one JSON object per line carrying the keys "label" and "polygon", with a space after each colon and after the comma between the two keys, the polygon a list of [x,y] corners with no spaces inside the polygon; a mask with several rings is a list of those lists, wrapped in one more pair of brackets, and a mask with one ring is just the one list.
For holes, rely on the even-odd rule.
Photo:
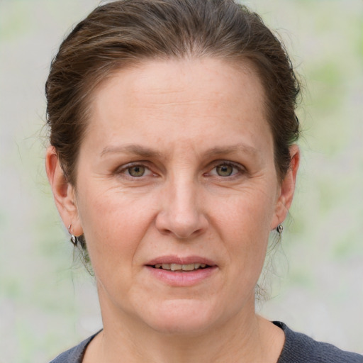
{"label": "woman's pink lower lip beneath her visible teeth", "polygon": [[207,267],[206,269],[196,269],[194,271],[181,272],[170,271],[167,269],[155,269],[147,266],[147,270],[152,274],[152,277],[168,284],[170,286],[193,286],[199,284],[211,277],[213,272],[216,272],[217,267]]}

